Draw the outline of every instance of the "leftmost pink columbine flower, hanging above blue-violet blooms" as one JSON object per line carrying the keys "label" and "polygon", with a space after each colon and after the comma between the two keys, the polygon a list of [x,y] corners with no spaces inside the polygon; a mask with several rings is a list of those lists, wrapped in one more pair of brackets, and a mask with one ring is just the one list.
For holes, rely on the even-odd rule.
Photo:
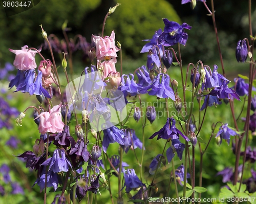
{"label": "leftmost pink columbine flower, hanging above blue-violet blooms", "polygon": [[[33,70],[36,68],[35,54],[37,51],[28,50],[28,46],[22,47],[22,50],[9,49],[9,51],[16,55],[13,65],[18,70]],[[38,51],[40,52],[41,49]]]}

